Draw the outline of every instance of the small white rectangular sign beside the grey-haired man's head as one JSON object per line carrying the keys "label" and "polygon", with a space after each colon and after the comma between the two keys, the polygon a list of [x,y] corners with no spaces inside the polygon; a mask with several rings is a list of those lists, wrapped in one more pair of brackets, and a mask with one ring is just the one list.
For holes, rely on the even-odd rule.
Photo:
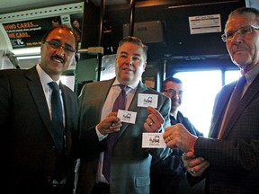
{"label": "small white rectangular sign beside the grey-haired man's head", "polygon": [[189,17],[189,25],[191,34],[220,32],[220,14]]}

